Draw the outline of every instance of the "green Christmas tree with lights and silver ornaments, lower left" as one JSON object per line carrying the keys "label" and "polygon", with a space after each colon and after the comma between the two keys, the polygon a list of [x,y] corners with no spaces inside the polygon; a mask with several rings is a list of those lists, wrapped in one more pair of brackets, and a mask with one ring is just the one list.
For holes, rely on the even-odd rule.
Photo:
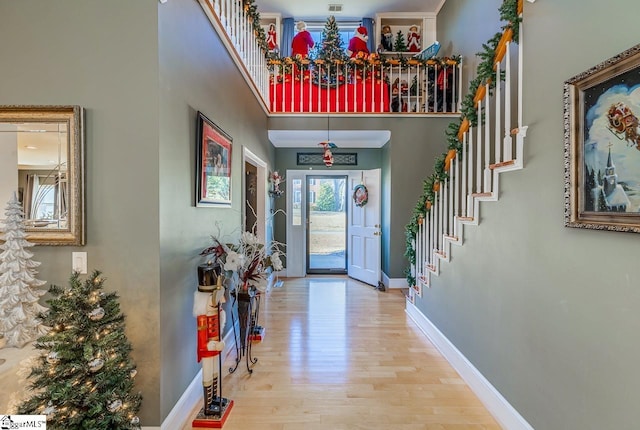
{"label": "green Christmas tree with lights and silver ornaments, lower left", "polygon": [[140,428],[125,318],[103,284],[99,271],[84,282],[74,272],[68,289],[49,289],[54,298],[43,318],[52,329],[35,343],[42,354],[28,378],[34,394],[18,407],[19,414],[46,415],[48,429]]}

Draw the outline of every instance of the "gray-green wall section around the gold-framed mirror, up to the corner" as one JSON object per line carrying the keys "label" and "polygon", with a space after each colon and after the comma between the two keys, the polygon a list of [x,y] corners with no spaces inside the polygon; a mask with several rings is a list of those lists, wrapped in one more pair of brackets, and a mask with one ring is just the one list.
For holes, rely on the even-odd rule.
{"label": "gray-green wall section around the gold-framed mirror, up to the corner", "polygon": [[86,108],[87,245],[33,248],[39,278],[67,286],[72,251],[103,271],[127,316],[145,424],[160,397],[157,4],[0,2],[1,103]]}

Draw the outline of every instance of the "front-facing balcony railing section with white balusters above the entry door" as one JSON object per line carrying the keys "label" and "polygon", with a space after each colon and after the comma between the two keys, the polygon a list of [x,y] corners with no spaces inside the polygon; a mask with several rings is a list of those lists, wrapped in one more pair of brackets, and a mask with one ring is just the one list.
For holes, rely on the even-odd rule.
{"label": "front-facing balcony railing section with white balusters above the entry door", "polygon": [[270,60],[273,113],[457,112],[457,59]]}

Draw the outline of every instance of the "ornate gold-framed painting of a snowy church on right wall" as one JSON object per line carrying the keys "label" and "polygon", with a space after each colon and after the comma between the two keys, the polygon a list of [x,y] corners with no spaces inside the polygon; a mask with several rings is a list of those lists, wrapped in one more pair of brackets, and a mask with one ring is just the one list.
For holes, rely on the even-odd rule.
{"label": "ornate gold-framed painting of a snowy church on right wall", "polygon": [[565,226],[640,233],[640,45],[564,85]]}

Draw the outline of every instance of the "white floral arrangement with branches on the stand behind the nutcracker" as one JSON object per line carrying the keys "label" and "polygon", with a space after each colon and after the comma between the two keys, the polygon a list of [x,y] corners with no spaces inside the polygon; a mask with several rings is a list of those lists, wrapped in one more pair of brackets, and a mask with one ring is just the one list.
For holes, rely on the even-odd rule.
{"label": "white floral arrangement with branches on the stand behind the nutcracker", "polygon": [[222,266],[228,279],[234,279],[234,288],[247,292],[267,289],[267,280],[272,271],[283,269],[280,256],[284,255],[282,244],[272,241],[270,246],[260,243],[255,234],[245,231],[238,243],[225,243],[219,236],[212,236],[213,246],[200,255],[211,256]]}

